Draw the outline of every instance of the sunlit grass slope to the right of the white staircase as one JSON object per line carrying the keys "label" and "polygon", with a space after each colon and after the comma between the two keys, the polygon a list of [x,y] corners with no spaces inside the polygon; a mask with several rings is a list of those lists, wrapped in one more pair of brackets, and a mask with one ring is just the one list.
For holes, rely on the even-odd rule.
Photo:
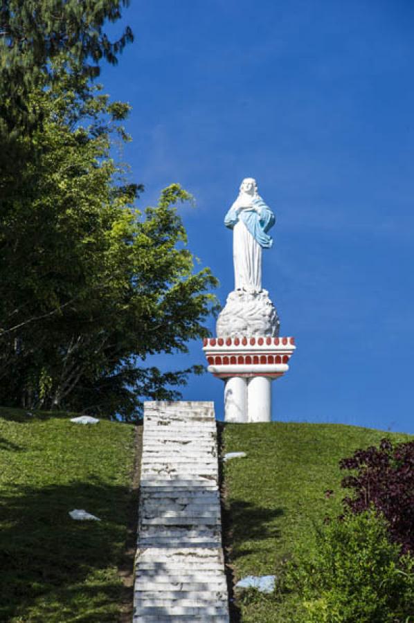
{"label": "sunlit grass slope to the right of the white staircase", "polygon": [[[225,523],[235,581],[245,575],[280,576],[294,549],[312,539],[314,523],[341,512],[345,474],[339,460],[384,436],[412,439],[339,424],[224,425],[223,452],[247,453],[224,467]],[[334,491],[330,498],[325,497],[327,489]],[[294,618],[298,596],[284,599],[249,591],[240,595],[237,606],[244,623],[300,621]]]}

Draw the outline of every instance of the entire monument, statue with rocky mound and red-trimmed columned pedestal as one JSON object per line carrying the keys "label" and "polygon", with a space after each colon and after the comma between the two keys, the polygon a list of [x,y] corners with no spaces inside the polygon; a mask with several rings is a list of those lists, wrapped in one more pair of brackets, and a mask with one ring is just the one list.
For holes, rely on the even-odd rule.
{"label": "entire monument, statue with rocky mound and red-trimmed columned pedestal", "polygon": [[280,337],[280,320],[262,288],[262,250],[271,249],[275,216],[246,177],[224,218],[233,230],[235,289],[216,324],[217,337],[204,340],[208,372],[225,381],[226,422],[270,422],[271,381],[289,370],[294,338]]}

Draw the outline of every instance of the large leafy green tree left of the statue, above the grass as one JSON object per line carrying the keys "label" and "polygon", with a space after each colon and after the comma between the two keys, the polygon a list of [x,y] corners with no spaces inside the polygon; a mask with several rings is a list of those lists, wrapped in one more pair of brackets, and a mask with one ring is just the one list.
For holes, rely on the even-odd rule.
{"label": "large leafy green tree left of the statue, above the grass", "polygon": [[194,272],[177,213],[185,190],[134,208],[140,187],[109,153],[111,136],[128,140],[128,106],[65,62],[53,73],[30,93],[42,127],[17,139],[25,157],[0,185],[0,401],[130,418],[140,397],[177,397],[199,372],[142,362],[206,336],[216,281]]}

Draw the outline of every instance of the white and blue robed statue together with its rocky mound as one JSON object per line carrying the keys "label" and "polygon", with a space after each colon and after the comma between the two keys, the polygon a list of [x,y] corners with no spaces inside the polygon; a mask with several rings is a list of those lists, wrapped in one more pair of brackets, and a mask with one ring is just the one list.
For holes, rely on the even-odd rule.
{"label": "white and blue robed statue together with its rocky mound", "polygon": [[270,249],[268,234],[275,223],[271,209],[258,194],[255,179],[246,177],[226,214],[224,224],[233,229],[235,289],[216,324],[218,337],[278,336],[278,312],[262,288],[262,249]]}

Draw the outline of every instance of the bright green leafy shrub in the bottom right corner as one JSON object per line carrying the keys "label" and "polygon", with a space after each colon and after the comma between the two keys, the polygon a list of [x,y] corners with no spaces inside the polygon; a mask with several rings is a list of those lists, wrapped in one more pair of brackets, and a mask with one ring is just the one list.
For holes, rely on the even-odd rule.
{"label": "bright green leafy shrub in the bottom right corner", "polygon": [[414,558],[400,552],[374,509],[345,513],[318,529],[313,547],[299,553],[287,570],[287,587],[303,596],[301,622],[411,620]]}

